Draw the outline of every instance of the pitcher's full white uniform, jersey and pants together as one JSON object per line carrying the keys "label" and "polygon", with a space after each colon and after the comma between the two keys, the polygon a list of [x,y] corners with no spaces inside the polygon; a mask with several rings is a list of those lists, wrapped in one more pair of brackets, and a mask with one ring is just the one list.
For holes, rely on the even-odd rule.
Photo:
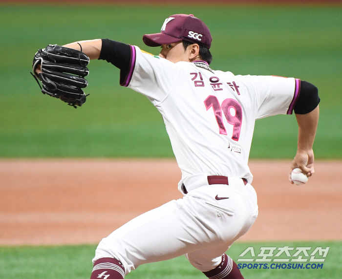
{"label": "pitcher's full white uniform, jersey and pants together", "polygon": [[[248,168],[255,120],[291,114],[300,80],[235,76],[203,61],[173,64],[130,47],[131,65],[122,86],[146,95],[162,114],[182,171],[178,189],[184,197],[104,238],[93,262],[116,258],[128,274],[140,264],[184,254],[200,271],[212,270],[257,216]],[[208,175],[227,176],[229,185],[209,185]]]}

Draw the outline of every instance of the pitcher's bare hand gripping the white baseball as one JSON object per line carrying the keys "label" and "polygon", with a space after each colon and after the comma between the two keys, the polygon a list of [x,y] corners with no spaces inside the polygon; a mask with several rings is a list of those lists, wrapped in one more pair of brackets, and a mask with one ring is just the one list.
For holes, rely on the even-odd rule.
{"label": "pitcher's bare hand gripping the white baseball", "polygon": [[291,179],[291,172],[296,168],[299,168],[308,177],[314,174],[314,160],[314,151],[312,149],[308,151],[297,151],[297,154],[291,163],[288,175],[291,184],[293,184],[293,181]]}

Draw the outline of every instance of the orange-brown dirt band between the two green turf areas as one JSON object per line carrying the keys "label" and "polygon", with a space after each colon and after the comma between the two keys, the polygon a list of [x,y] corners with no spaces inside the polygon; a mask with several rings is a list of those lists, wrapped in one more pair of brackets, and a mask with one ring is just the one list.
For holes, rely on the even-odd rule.
{"label": "orange-brown dirt band between the two green turf areas", "polygon": [[[342,240],[342,161],[316,162],[305,186],[289,162],[251,161],[259,216],[240,241]],[[97,243],[182,197],[175,160],[0,160],[0,245]]]}

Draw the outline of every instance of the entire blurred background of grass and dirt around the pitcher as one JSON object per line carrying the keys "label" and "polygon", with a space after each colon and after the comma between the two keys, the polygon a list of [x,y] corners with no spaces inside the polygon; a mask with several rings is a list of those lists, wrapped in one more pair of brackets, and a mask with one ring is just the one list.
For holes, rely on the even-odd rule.
{"label": "entire blurred background of grass and dirt around the pitcher", "polygon": [[[77,109],[43,95],[29,73],[34,54],[48,44],[108,38],[157,55],[160,49],[142,36],[179,13],[210,28],[213,69],[295,77],[319,88],[317,172],[308,187],[287,181],[295,115],[256,121],[249,166],[259,217],[229,255],[236,260],[249,246],[331,247],[322,270],[243,274],[341,278],[341,0],[0,0],[0,278],[89,278],[92,243],[181,196],[163,119],[146,97],[119,86],[118,69],[91,61],[90,95]],[[160,185],[163,191],[155,191]],[[283,242],[270,242],[276,240]],[[80,243],[90,245],[22,246]],[[139,267],[128,278],[203,275],[179,257]]]}

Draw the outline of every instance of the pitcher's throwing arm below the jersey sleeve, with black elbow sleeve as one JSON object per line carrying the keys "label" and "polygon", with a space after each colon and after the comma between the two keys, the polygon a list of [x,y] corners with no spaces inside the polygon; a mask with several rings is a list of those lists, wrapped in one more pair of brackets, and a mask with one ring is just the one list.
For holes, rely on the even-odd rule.
{"label": "pitcher's throwing arm below the jersey sleeve, with black elbow sleeve", "polygon": [[319,103],[317,87],[302,81],[299,98],[294,108],[299,129],[297,153],[289,172],[289,180],[292,184],[291,172],[293,169],[299,168],[307,176],[311,176],[315,172],[312,147],[319,119]]}

